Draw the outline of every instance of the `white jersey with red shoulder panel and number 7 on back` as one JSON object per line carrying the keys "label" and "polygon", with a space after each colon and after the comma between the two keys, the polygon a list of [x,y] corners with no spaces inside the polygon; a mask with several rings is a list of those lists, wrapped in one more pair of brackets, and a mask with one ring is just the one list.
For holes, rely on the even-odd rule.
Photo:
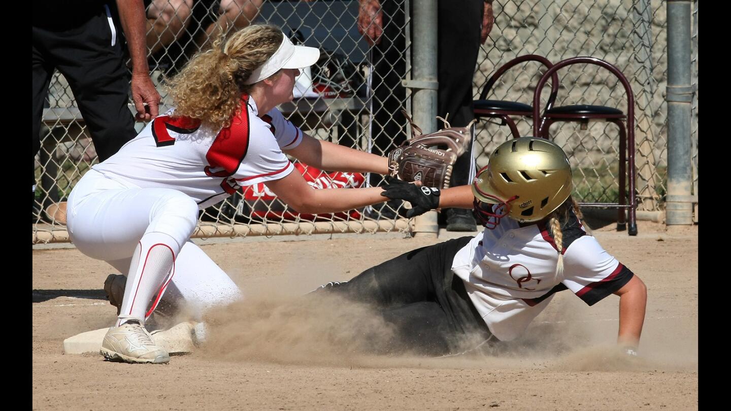
{"label": "white jersey with red shoulder panel and number 7 on back", "polygon": [[190,118],[154,118],[116,154],[94,165],[127,186],[175,189],[205,208],[241,185],[278,180],[294,166],[283,149],[299,146],[302,131],[273,108],[259,117],[254,99],[243,96],[230,127],[212,129]]}

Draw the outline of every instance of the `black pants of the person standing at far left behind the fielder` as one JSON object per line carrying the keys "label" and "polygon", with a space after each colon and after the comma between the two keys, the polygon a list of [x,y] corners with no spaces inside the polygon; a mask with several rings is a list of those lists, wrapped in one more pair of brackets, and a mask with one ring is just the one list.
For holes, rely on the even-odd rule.
{"label": "black pants of the person standing at far left behind the fielder", "polygon": [[43,103],[57,68],[71,86],[102,162],[137,135],[127,107],[129,72],[121,25],[116,23],[113,2],[109,9],[103,4],[74,7],[59,3],[64,7],[34,3],[33,154],[40,148]]}

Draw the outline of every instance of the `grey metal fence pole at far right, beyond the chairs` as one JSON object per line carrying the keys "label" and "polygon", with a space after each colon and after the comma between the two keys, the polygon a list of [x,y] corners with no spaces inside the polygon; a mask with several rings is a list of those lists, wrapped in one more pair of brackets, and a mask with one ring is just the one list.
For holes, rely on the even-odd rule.
{"label": "grey metal fence pole at far right, beyond the chairs", "polygon": [[667,225],[692,225],[691,1],[667,0]]}

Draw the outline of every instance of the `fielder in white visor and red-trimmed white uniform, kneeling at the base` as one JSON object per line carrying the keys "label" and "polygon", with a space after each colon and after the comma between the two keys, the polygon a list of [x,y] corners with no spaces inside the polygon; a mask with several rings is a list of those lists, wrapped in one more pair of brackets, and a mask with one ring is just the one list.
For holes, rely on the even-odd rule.
{"label": "fielder in white visor and red-trimmed white uniform, kneeling at the base", "polygon": [[67,209],[72,241],[127,274],[118,320],[102,343],[105,358],[170,361],[144,328],[168,289],[166,299],[183,298],[201,309],[240,296],[189,241],[199,209],[240,185],[265,183],[309,214],[386,200],[379,187],[315,190],[292,173],[284,153],[322,170],[388,173],[385,157],[309,137],[276,109],[292,100],[299,69],[318,57],[317,48],[292,45],[276,26],[249,26],[225,44],[219,40],[172,80],[175,108],[74,187]]}

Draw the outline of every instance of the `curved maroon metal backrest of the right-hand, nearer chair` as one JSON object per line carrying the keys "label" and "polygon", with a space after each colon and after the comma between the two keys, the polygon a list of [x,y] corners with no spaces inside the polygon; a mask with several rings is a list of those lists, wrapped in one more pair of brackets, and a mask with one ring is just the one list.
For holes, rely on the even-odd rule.
{"label": "curved maroon metal backrest of the right-hand, nearer chair", "polygon": [[[538,118],[538,115],[540,113],[540,105],[541,105],[541,90],[543,86],[545,86],[545,83],[548,81],[548,78],[551,79],[551,90],[553,90],[553,86],[555,83],[558,83],[556,81],[556,72],[558,70],[570,66],[572,64],[595,64],[600,67],[604,67],[605,69],[612,72],[613,75],[615,75],[619,81],[622,83],[622,86],[624,86],[624,91],[627,94],[627,133],[630,136],[634,136],[634,130],[635,130],[635,95],[632,94],[632,88],[629,86],[629,81],[627,81],[627,78],[624,77],[624,74],[622,74],[621,71],[612,64],[607,63],[607,61],[604,61],[602,59],[596,59],[596,57],[588,57],[588,56],[581,56],[581,57],[569,57],[569,59],[564,59],[561,61],[558,61],[558,63],[553,64],[553,67],[550,67],[547,72],[543,73],[540,80],[538,80],[538,86],[536,87],[536,91],[533,93],[533,135],[539,135],[540,127],[543,124],[543,118],[541,118],[540,121],[536,121],[536,118]],[[549,107],[546,107],[546,110],[548,110]],[[632,151],[630,151],[632,153]]]}

